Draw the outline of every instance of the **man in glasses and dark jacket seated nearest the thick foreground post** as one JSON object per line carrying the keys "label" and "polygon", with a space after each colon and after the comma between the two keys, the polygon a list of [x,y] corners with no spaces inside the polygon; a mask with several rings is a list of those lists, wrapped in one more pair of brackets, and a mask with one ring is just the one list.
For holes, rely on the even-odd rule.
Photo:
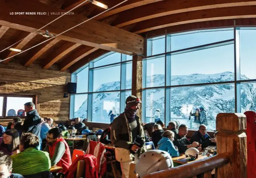
{"label": "man in glasses and dark jacket seated nearest the thick foreground post", "polygon": [[215,145],[215,138],[211,138],[207,133],[207,127],[204,124],[201,124],[199,130],[191,137],[190,142],[199,142],[202,148],[206,148]]}

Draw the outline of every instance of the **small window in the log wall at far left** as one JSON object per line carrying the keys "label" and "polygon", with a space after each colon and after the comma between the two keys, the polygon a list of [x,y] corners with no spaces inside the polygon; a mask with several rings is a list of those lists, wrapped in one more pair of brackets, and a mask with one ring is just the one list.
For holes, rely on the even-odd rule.
{"label": "small window in the log wall at far left", "polygon": [[24,104],[35,103],[35,95],[0,94],[0,118],[26,117]]}

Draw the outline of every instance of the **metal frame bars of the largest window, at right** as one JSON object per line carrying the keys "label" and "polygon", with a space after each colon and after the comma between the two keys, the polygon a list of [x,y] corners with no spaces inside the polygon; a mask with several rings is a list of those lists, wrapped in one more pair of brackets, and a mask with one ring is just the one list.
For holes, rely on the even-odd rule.
{"label": "metal frame bars of the largest window, at right", "polygon": [[[191,33],[193,31],[198,31],[198,30],[189,30],[189,31],[184,31],[184,32],[172,32],[172,33],[166,33],[165,34],[165,53],[162,54],[156,54],[156,55],[148,55],[143,58],[143,88],[142,88],[142,102],[146,102],[146,90],[150,89],[165,89],[165,124],[168,124],[170,122],[170,89],[175,88],[175,87],[186,87],[186,86],[209,86],[209,85],[218,85],[218,84],[234,84],[235,86],[235,92],[234,92],[234,98],[235,98],[235,112],[240,113],[241,112],[241,83],[245,82],[256,82],[256,79],[249,79],[249,80],[241,80],[240,77],[240,30],[256,30],[256,27],[237,27],[233,26],[232,28],[227,27],[227,28],[212,28],[212,29],[202,29],[199,31],[223,31],[223,30],[232,30],[234,33],[234,38],[230,40],[223,40],[223,41],[218,41],[214,43],[208,43],[205,45],[199,45],[199,46],[194,46],[194,47],[189,47],[189,48],[184,48],[184,49],[179,49],[179,50],[174,50],[174,51],[168,51],[167,49],[170,49],[171,45],[171,36],[175,36],[176,34],[187,34]],[[154,36],[150,38],[145,38],[145,47],[147,47],[146,54],[151,54],[150,52],[152,51],[151,47],[151,41],[152,39],[157,39],[159,37],[163,37],[162,35],[159,36]],[[196,84],[187,84],[187,85],[171,85],[170,84],[170,79],[171,79],[171,66],[170,66],[170,56],[173,54],[180,54],[183,52],[190,52],[194,50],[202,50],[205,48],[211,48],[211,47],[217,47],[221,46],[223,44],[234,44],[234,80],[232,81],[222,81],[222,82],[214,82],[214,83],[196,83]],[[146,61],[148,59],[154,59],[154,58],[159,58],[160,56],[165,56],[165,86],[156,86],[156,87],[146,87]],[[146,121],[146,104],[142,104],[142,120],[143,122]]]}

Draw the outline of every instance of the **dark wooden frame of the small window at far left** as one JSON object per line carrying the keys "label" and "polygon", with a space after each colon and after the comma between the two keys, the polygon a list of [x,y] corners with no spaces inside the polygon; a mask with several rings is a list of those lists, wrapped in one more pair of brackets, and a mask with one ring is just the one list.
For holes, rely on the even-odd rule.
{"label": "dark wooden frame of the small window at far left", "polygon": [[[6,112],[7,112],[7,97],[26,97],[26,98],[32,98],[32,101],[35,104],[35,108],[38,110],[37,95],[29,95],[29,94],[0,94],[0,97],[4,97],[3,108],[2,108],[2,113],[3,114],[2,114],[2,116],[0,116],[0,119],[13,119],[15,117],[20,117],[22,119],[26,118],[26,116],[6,116]],[[38,110],[38,112],[39,112],[39,110]]]}

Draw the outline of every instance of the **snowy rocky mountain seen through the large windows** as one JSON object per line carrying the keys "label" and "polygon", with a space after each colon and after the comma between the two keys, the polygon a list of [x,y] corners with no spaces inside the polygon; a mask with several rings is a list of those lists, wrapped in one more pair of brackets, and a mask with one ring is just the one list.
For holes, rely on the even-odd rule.
{"label": "snowy rocky mountain seen through the large windows", "polygon": [[[241,76],[241,79],[248,79]],[[165,76],[156,74],[148,76],[146,87],[164,86]],[[193,83],[213,83],[234,80],[234,73],[223,72],[219,74],[191,74],[172,76],[171,85],[186,85]],[[102,84],[97,91],[119,90],[120,82]],[[131,88],[131,80],[126,81],[126,88]],[[130,93],[126,93],[130,95]],[[93,94],[93,120],[109,122],[108,113],[113,107],[119,113],[119,92]],[[256,109],[256,85],[241,84],[241,108],[245,110]],[[170,90],[171,120],[179,120],[189,124],[189,113],[204,106],[210,122],[209,129],[215,128],[215,118],[220,112],[234,112],[234,84],[177,87]],[[164,119],[165,89],[146,90],[146,119],[154,121],[155,110],[160,109],[161,119]],[[86,118],[87,100],[75,111],[75,117]],[[192,118],[193,119],[193,118]],[[190,124],[191,126],[191,124]],[[193,127],[193,126],[192,126]]]}

